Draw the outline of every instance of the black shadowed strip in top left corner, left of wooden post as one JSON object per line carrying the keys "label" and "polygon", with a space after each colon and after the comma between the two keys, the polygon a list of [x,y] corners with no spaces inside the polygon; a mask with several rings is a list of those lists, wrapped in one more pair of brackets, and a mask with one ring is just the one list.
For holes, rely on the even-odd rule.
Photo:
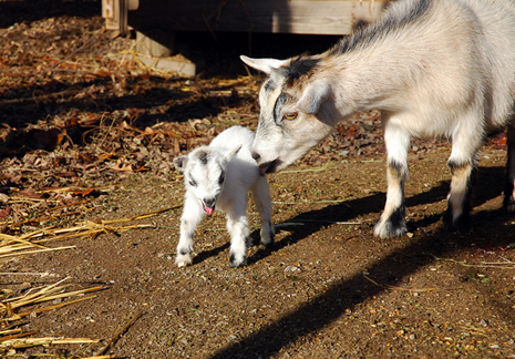
{"label": "black shadowed strip in top left corner, left of wooden post", "polygon": [[0,28],[51,17],[92,17],[101,13],[100,0],[10,0],[0,2]]}

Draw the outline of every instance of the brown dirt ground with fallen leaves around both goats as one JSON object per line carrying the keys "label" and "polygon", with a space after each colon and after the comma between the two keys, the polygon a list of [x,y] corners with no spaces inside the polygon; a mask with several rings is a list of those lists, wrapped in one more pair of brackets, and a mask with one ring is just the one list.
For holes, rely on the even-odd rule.
{"label": "brown dirt ground with fallen leaves around both goats", "polygon": [[[261,79],[183,79],[110,60],[134,40],[109,40],[97,6],[79,1],[89,11],[81,17],[49,8],[20,19],[14,6],[16,21],[0,16],[2,235],[102,225],[48,244],[70,249],[0,257],[0,299],[65,278],[72,290],[103,287],[53,310],[35,310],[20,320],[6,309],[0,328],[0,346],[1,330],[13,328],[97,343],[2,355],[86,358],[107,347],[112,358],[515,358],[515,219],[502,209],[502,135],[478,158],[470,233],[442,229],[449,144],[415,141],[409,233],[373,237],[387,184],[371,112],[269,175],[271,248],[256,244],[250,202],[246,267],[229,267],[225,218],[215,213],[197,229],[193,265],[177,268],[184,187],[171,160],[230,125],[254,130]],[[237,68],[237,58],[216,59]],[[115,219],[138,227],[105,225]]]}

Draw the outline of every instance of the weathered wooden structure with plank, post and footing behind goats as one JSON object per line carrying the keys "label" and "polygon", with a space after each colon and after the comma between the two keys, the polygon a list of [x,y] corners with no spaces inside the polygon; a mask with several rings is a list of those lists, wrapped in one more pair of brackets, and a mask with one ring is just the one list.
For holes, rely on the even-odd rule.
{"label": "weathered wooden structure with plank, post and footing behind goats", "polygon": [[106,29],[138,33],[137,51],[173,52],[176,31],[348,34],[389,0],[102,0]]}

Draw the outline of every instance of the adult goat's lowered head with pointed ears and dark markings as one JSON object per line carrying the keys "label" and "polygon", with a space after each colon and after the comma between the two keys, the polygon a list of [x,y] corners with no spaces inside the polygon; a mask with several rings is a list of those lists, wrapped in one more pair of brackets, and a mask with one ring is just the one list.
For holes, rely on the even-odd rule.
{"label": "adult goat's lowered head with pointed ears and dark markings", "polygon": [[261,107],[253,156],[261,175],[286,168],[323,140],[338,117],[328,71],[319,57],[250,59],[268,78],[259,91]]}

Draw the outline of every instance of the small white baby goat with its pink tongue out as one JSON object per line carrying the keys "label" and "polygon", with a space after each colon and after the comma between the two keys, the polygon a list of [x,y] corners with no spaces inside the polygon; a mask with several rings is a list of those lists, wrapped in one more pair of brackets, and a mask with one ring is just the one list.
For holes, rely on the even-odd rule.
{"label": "small white baby goat with its pink tongue out", "polygon": [[193,236],[205,214],[215,208],[227,215],[230,234],[230,266],[246,265],[248,192],[251,191],[261,217],[261,245],[274,242],[271,197],[268,182],[259,174],[251,157],[254,133],[241,126],[222,132],[208,146],[200,146],[188,155],[174,160],[175,167],[184,173],[186,186],[181,238],[175,263],[182,267],[192,263]]}

